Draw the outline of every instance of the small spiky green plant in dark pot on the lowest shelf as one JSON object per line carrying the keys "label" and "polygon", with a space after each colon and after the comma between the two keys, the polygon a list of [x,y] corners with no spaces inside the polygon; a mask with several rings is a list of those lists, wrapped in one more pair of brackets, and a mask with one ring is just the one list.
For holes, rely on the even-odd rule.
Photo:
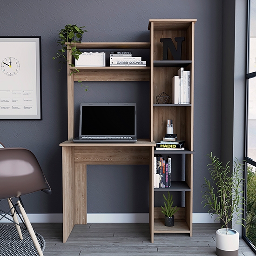
{"label": "small spiky green plant in dark pot on the lowest shelf", "polygon": [[178,211],[179,208],[177,206],[172,207],[173,200],[172,195],[170,195],[170,192],[168,191],[168,198],[163,194],[163,198],[166,202],[164,202],[164,207],[162,208],[162,213],[164,214],[164,224],[165,226],[172,227],[174,226],[174,214]]}

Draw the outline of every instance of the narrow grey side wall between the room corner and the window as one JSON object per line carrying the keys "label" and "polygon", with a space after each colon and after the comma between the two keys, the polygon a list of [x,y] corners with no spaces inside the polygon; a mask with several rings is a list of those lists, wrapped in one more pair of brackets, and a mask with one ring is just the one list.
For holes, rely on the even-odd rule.
{"label": "narrow grey side wall between the room corner and the window", "polygon": [[[222,162],[244,159],[247,1],[223,0]],[[236,22],[234,22],[236,20]],[[243,206],[241,206],[243,207]],[[242,235],[242,225],[235,229]]]}

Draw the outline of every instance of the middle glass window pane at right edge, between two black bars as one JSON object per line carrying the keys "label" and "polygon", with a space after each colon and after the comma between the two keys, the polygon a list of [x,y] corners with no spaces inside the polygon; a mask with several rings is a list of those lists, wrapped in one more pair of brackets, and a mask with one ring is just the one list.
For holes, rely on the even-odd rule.
{"label": "middle glass window pane at right edge, between two black bars", "polygon": [[247,156],[256,161],[256,77],[249,79]]}

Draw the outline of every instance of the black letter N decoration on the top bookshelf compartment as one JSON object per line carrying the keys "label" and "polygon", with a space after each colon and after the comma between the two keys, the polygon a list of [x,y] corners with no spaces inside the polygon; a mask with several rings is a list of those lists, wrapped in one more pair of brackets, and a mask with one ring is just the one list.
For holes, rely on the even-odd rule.
{"label": "black letter N decoration on the top bookshelf compartment", "polygon": [[168,47],[175,61],[181,61],[182,58],[182,41],[185,40],[184,37],[175,37],[177,42],[177,49],[171,38],[160,38],[160,42],[163,43],[162,60],[168,60]]}

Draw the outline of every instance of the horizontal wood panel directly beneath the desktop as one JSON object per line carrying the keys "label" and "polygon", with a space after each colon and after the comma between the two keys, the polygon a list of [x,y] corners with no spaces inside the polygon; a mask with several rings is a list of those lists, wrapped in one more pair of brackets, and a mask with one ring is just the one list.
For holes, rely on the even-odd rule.
{"label": "horizontal wood panel directly beneath the desktop", "polygon": [[149,164],[148,147],[75,147],[75,163],[86,164]]}

